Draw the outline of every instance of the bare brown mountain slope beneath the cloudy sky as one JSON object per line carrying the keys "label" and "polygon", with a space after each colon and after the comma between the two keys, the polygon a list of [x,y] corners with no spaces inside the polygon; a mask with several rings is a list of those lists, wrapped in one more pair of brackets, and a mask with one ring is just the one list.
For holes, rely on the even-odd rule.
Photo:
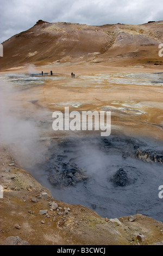
{"label": "bare brown mountain slope beneath the cloudy sky", "polygon": [[144,25],[88,26],[49,23],[35,26],[3,42],[1,70],[29,63],[109,62],[110,65],[162,65],[158,55],[163,21]]}

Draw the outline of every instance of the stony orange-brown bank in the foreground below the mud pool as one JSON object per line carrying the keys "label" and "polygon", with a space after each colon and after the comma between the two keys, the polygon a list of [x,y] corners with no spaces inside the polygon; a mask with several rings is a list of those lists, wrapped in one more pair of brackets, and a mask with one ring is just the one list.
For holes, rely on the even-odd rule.
{"label": "stony orange-brown bank in the foreground below the mud pool", "polygon": [[[163,241],[163,223],[152,218],[137,214],[134,221],[129,216],[108,220],[85,206],[55,200],[18,166],[5,146],[0,166],[1,245],[8,236],[19,236],[29,245],[153,245]],[[60,210],[51,210],[49,202],[53,201]],[[40,215],[40,210],[47,212]]]}

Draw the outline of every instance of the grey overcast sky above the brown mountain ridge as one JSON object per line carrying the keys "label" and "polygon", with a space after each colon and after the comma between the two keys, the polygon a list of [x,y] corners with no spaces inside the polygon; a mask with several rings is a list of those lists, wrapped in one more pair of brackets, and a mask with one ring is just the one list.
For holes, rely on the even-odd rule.
{"label": "grey overcast sky above the brown mountain ridge", "polygon": [[162,0],[0,0],[0,41],[37,20],[87,25],[142,24],[163,20]]}

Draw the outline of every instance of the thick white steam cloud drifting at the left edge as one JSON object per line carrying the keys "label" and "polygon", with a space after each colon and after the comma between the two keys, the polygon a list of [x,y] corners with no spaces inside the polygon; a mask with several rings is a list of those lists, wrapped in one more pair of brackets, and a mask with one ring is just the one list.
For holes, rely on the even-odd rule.
{"label": "thick white steam cloud drifting at the left edge", "polygon": [[39,141],[39,130],[35,124],[32,103],[17,97],[16,90],[9,83],[0,80],[0,138],[9,147],[16,161],[23,167],[43,161],[43,149]]}

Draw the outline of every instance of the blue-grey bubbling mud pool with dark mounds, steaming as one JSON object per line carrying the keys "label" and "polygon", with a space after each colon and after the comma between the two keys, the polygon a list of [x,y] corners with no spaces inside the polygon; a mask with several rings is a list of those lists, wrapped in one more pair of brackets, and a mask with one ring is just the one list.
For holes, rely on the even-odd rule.
{"label": "blue-grey bubbling mud pool with dark mounds, steaming", "polygon": [[33,174],[57,200],[85,205],[102,217],[139,213],[163,221],[158,196],[163,151],[158,143],[75,136],[52,139],[47,157]]}

